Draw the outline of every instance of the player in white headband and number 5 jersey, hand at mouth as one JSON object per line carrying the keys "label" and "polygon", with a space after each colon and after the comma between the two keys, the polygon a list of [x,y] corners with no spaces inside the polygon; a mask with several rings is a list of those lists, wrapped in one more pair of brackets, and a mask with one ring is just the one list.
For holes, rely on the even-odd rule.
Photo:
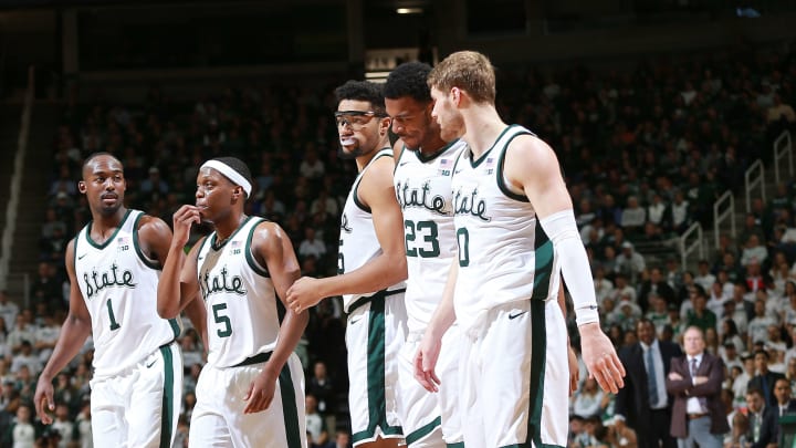
{"label": "player in white headband and number 5 jersey, hand at mouth", "polygon": [[[298,262],[282,228],[243,213],[251,189],[243,162],[208,160],[196,206],[174,215],[158,312],[177,315],[199,293],[207,306],[208,362],[197,382],[191,447],[306,447],[304,374],[293,350],[308,315],[287,310],[280,325],[276,311]],[[201,221],[214,231],[186,256],[190,228]]]}

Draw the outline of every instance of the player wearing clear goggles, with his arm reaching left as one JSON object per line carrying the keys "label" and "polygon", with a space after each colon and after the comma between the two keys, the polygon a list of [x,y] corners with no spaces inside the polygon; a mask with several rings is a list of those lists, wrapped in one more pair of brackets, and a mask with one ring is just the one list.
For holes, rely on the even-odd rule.
{"label": "player wearing clear goggles, with his arm reaching left", "polygon": [[380,86],[348,81],[335,90],[343,156],[359,171],[341,226],[338,272],[298,279],[287,291],[295,310],[343,295],[348,313],[352,442],[396,447],[404,438],[396,411],[397,356],[406,338],[404,221],[392,186],[392,149]]}

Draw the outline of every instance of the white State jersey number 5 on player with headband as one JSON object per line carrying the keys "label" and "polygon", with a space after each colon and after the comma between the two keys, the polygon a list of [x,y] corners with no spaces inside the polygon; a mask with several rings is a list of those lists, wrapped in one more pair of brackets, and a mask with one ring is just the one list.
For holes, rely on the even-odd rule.
{"label": "white State jersey number 5 on player with headband", "polygon": [[223,368],[276,346],[276,292],[268,269],[252,254],[260,218],[247,218],[226,241],[212,232],[197,254],[197,274],[208,315],[208,364]]}

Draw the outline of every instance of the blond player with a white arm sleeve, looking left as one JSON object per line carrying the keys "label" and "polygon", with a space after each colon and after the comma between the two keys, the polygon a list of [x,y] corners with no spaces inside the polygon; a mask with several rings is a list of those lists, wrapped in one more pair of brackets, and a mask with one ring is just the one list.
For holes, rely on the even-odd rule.
{"label": "blond player with a white arm sleeve, looking left", "polygon": [[566,325],[556,303],[567,282],[584,361],[605,390],[624,368],[601,332],[586,251],[553,150],[495,110],[494,70],[475,52],[451,54],[428,79],[442,138],[468,149],[451,187],[459,244],[446,293],[421,342],[416,375],[430,390],[442,335],[457,320],[464,445],[566,446]]}

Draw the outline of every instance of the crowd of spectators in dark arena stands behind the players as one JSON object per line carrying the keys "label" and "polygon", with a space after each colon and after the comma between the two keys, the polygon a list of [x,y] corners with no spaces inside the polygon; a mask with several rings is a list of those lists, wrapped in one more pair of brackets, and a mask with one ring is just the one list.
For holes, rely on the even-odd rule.
{"label": "crowd of spectators in dark arena stands behind the players", "polygon": [[[606,333],[621,348],[636,341],[641,317],[654,323],[658,337],[674,342],[688,325],[702,327],[708,350],[727,366],[725,388],[734,397],[729,411],[744,409],[744,382],[755,374],[750,360],[757,348],[796,390],[794,185],[757,199],[739,236],[722,236],[712,258],[694,270],[679,258],[650,259],[637,248],[666,246],[691,223],[710,222],[718,196],[737,191],[744,170],[765,157],[773,136],[793,128],[793,80],[794,53],[769,48],[725,58],[657,58],[630,72],[500,71],[503,116],[548,142],[562,162]],[[139,104],[96,100],[65,108],[52,144],[31,308],[0,293],[0,446],[21,437],[91,446],[91,344],[57,376],[56,423],[41,428],[31,410],[36,376],[67,311],[64,251],[91,215],[76,191],[83,158],[97,150],[116,155],[125,165],[128,206],[170,223],[180,205],[193,202],[202,160],[239,157],[256,183],[248,212],[286,230],[302,274],[334,275],[339,211],[356,169],[338,159],[331,98],[337,84],[230,87],[192,104],[153,86]],[[311,315],[298,347],[307,374],[308,437],[313,447],[343,447],[342,302],[323,301]],[[577,332],[572,334],[577,346]],[[186,437],[202,347],[190,329],[181,346]],[[574,447],[632,446],[632,428],[614,418],[614,398],[582,372],[572,399]]]}

